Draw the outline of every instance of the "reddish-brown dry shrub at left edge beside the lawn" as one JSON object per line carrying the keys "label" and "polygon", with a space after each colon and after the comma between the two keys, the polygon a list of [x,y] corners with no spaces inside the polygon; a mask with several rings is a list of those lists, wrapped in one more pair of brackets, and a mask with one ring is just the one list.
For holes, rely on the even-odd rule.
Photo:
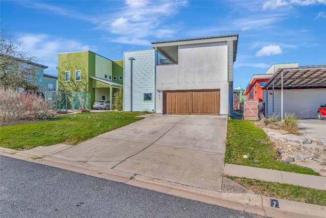
{"label": "reddish-brown dry shrub at left edge beside the lawn", "polygon": [[42,96],[0,87],[0,126],[46,119],[48,104]]}

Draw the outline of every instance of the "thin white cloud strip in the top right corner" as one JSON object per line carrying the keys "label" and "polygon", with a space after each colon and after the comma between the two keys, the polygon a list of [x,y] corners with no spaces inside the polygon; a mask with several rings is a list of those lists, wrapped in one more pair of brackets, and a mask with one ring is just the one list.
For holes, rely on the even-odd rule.
{"label": "thin white cloud strip in the top right corner", "polygon": [[275,10],[284,6],[326,5],[326,0],[269,0],[263,4],[263,10]]}

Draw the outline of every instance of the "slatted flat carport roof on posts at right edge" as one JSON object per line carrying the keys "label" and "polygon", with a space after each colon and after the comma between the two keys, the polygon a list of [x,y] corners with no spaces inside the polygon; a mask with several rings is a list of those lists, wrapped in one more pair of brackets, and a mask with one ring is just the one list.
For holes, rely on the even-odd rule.
{"label": "slatted flat carport roof on posts at right edge", "polygon": [[312,89],[326,88],[326,65],[279,68],[266,82],[263,89]]}

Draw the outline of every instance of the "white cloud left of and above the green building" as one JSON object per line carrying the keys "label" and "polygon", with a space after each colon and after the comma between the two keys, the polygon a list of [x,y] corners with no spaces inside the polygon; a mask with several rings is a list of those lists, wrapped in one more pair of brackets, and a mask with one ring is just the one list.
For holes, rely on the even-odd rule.
{"label": "white cloud left of and above the green building", "polygon": [[96,47],[89,46],[71,39],[58,38],[46,34],[20,34],[17,41],[21,42],[25,50],[37,58],[37,62],[49,67],[47,71],[56,74],[58,54],[74,51],[96,51]]}

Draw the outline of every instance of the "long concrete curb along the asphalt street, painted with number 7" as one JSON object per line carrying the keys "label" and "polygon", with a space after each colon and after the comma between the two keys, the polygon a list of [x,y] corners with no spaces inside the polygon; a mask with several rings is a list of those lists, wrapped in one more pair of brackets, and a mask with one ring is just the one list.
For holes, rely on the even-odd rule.
{"label": "long concrete curb along the asphalt street, painted with number 7", "polygon": [[40,163],[48,166],[59,167],[69,171],[95,176],[116,182],[146,188],[169,195],[201,201],[209,204],[242,210],[263,216],[271,217],[325,217],[326,207],[305,204],[283,199],[278,201],[279,208],[271,207],[271,198],[250,193],[223,193],[208,189],[182,185],[179,183],[149,178],[141,175],[117,171],[115,169],[91,165],[84,162],[73,162],[50,156],[25,154],[6,148],[0,148],[0,155],[21,160]]}

